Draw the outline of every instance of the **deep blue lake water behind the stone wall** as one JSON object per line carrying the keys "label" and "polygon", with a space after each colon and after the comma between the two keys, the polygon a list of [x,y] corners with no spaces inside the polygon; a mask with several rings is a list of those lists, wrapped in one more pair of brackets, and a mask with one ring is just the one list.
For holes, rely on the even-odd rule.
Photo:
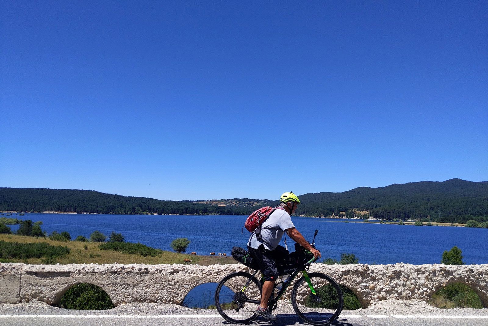
{"label": "deep blue lake water behind the stone wall", "polygon": [[[5,216],[5,215],[4,215]],[[6,217],[6,216],[5,216]],[[67,231],[72,239],[89,237],[99,230],[105,236],[112,231],[122,233],[126,241],[171,250],[176,238],[188,238],[187,252],[199,255],[224,252],[230,255],[233,246],[245,248],[249,232],[241,229],[245,216],[161,216],[161,215],[88,215],[88,214],[25,214],[10,217],[41,220],[42,230]],[[442,226],[411,226],[357,223],[343,219],[292,217],[297,229],[311,241],[315,240],[322,257],[339,260],[341,253],[352,253],[361,263],[411,264],[439,263],[442,253],[453,246],[463,251],[468,264],[488,263],[488,229]],[[15,231],[18,225],[9,225]],[[282,240],[283,242],[283,240]],[[294,241],[287,238],[289,248]],[[283,245],[283,243],[282,243]],[[290,250],[291,251],[291,250]]]}

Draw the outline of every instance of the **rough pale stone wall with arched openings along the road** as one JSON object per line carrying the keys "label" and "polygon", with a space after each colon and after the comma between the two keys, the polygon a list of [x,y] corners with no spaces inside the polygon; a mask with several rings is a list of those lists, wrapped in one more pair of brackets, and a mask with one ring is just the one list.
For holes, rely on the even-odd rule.
{"label": "rough pale stone wall with arched openings along the road", "polygon": [[[100,286],[117,306],[130,302],[181,304],[195,286],[219,282],[233,271],[249,271],[242,264],[0,264],[0,303],[39,300],[58,304],[77,283]],[[251,272],[253,272],[251,270]],[[468,284],[488,307],[488,264],[483,265],[325,265],[315,263],[309,272],[323,272],[347,286],[366,308],[371,302],[396,298],[428,301],[448,283]],[[290,295],[291,286],[287,289]]]}

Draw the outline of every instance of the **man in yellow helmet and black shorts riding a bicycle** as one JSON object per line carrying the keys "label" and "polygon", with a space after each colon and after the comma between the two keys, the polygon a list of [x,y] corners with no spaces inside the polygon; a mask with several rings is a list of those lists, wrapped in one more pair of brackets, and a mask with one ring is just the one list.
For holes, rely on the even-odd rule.
{"label": "man in yellow helmet and black shorts riding a bicycle", "polygon": [[[254,260],[258,262],[259,269],[264,275],[263,293],[261,304],[256,310],[256,314],[263,316],[269,321],[277,320],[268,308],[268,300],[273,291],[279,273],[276,261],[281,260],[285,255],[285,248],[279,245],[283,234],[295,242],[300,243],[306,250],[310,251],[315,258],[321,257],[320,252],[310,245],[302,234],[295,228],[291,221],[291,215],[295,213],[300,199],[293,193],[284,193],[280,197],[280,207],[283,209],[275,210],[261,225],[261,237],[258,239],[256,231],[252,232],[247,242],[247,248]],[[259,228],[257,229],[259,230]],[[259,231],[258,231],[259,232]]]}

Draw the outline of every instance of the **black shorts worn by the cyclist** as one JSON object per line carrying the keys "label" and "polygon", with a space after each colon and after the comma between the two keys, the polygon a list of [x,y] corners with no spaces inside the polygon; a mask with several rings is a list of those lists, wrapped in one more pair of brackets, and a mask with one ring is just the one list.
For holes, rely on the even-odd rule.
{"label": "black shorts worn by the cyclist", "polygon": [[278,245],[275,250],[268,250],[264,245],[260,245],[258,249],[247,246],[247,250],[252,256],[252,259],[258,263],[261,273],[264,275],[266,281],[276,281],[280,276],[277,268],[278,263],[286,257],[288,251]]}

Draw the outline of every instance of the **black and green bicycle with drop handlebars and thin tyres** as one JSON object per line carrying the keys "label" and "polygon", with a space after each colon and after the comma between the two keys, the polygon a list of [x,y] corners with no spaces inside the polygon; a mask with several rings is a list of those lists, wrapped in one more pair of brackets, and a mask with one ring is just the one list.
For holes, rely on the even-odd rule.
{"label": "black and green bicycle with drop handlebars and thin tyres", "polygon": [[[315,248],[314,241],[318,232],[319,230],[315,230],[311,244],[313,248]],[[291,304],[295,313],[311,325],[327,325],[335,321],[344,304],[340,286],[324,273],[307,273],[308,267],[312,262],[317,261],[317,258],[314,258],[313,254],[300,244],[295,244],[295,252],[289,254],[289,257],[295,259],[294,266],[288,266],[291,268],[285,266],[281,269],[280,275],[291,275],[285,280],[286,282],[282,283],[281,288],[279,286],[277,288],[279,284],[275,283],[268,301],[269,309],[276,309],[278,300],[285,293],[286,288],[302,272],[303,276],[295,282],[291,291]],[[255,277],[258,272],[259,269],[252,275],[246,272],[231,273],[217,285],[215,306],[226,321],[232,324],[248,324],[258,317],[255,311],[261,303],[264,283],[263,274],[260,281]],[[275,290],[278,290],[276,295]]]}

